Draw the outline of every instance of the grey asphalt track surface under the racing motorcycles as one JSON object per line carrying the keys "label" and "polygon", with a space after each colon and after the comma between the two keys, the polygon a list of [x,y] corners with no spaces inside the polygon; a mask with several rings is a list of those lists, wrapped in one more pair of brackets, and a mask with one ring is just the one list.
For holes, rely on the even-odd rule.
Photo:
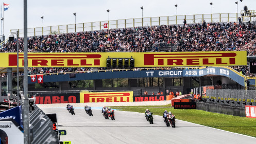
{"label": "grey asphalt track surface under the racing motorcycles", "polygon": [[[96,108],[97,109],[97,108]],[[89,116],[82,107],[75,115],[64,108],[42,108],[57,113],[62,141],[77,143],[256,143],[256,138],[176,120],[176,128],[166,127],[161,116],[153,115],[149,124],[142,113],[115,111],[115,120],[105,119],[101,110]]]}

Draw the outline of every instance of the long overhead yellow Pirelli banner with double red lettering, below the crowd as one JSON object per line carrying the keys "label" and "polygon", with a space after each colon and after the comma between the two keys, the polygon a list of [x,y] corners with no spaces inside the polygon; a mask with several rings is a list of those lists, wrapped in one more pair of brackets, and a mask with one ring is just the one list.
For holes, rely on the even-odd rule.
{"label": "long overhead yellow Pirelli banner with double red lettering, below the crowd", "polygon": [[[246,65],[246,51],[28,53],[28,67],[106,67],[107,58],[133,58],[135,67]],[[0,53],[0,67],[16,67],[16,53]],[[19,55],[19,66],[24,55]]]}

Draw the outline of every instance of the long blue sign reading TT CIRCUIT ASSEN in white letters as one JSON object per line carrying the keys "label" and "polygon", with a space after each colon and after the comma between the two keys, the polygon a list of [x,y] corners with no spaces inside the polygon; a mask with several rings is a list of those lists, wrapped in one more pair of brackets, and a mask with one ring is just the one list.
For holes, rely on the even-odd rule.
{"label": "long blue sign reading TT CIRCUIT ASSEN in white letters", "polygon": [[[161,69],[161,68],[160,68]],[[235,82],[245,85],[245,78],[234,70],[230,70],[225,67],[204,67],[200,69],[164,69],[164,70],[128,70],[128,71],[107,71],[107,72],[93,72],[93,73],[82,73],[75,74],[72,78],[76,80],[95,80],[95,79],[122,79],[122,78],[152,78],[152,77],[201,77],[206,75],[217,75],[231,78]],[[44,76],[44,82],[61,82],[69,81],[70,75],[50,75]],[[250,84],[255,84],[255,80],[249,80]],[[36,83],[28,81],[29,84]]]}

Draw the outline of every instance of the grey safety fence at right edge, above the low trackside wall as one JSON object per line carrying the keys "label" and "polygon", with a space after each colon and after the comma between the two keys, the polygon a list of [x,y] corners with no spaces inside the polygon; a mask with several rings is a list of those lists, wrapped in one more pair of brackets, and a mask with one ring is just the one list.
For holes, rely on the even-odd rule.
{"label": "grey safety fence at right edge, above the low trackside wall", "polygon": [[202,100],[208,103],[245,107],[245,105],[256,105],[255,90],[244,89],[207,89]]}

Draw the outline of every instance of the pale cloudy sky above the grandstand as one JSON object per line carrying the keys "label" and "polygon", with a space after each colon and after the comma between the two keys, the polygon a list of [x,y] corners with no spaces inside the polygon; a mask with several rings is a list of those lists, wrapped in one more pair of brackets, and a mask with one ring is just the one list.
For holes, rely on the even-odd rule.
{"label": "pale cloudy sky above the grandstand", "polygon": [[[256,0],[238,1],[238,12],[247,5],[249,10],[256,9]],[[4,11],[4,34],[9,35],[10,29],[23,29],[23,1],[0,0],[9,4],[9,9]],[[42,27],[41,16],[44,16],[44,26],[56,26],[74,24],[76,12],[76,23],[97,22],[108,20],[110,9],[110,20],[132,19],[154,16],[176,15],[178,4],[178,15],[185,14],[208,14],[211,13],[235,13],[236,0],[27,0],[28,4],[28,28]]]}

